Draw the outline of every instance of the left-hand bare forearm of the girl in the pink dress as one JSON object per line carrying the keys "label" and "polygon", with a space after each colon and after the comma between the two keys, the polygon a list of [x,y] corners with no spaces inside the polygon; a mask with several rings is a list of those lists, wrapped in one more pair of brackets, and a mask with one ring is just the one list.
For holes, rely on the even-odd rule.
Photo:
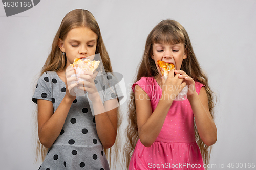
{"label": "left-hand bare forearm of the girl in the pink dress", "polygon": [[152,115],[138,130],[140,141],[145,147],[150,147],[158,137],[172,103],[173,101],[160,99]]}

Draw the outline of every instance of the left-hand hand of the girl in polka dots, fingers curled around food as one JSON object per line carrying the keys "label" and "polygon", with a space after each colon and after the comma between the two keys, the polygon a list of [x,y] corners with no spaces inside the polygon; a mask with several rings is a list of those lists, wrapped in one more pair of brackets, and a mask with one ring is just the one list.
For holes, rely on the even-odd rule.
{"label": "left-hand hand of the girl in polka dots, fingers curled around food", "polygon": [[75,76],[73,76],[73,77],[70,77],[70,76],[76,74],[75,69],[76,69],[75,67],[69,66],[65,71],[65,74],[66,74],[66,81],[65,81],[66,95],[70,99],[73,99],[73,100],[76,99],[76,93],[74,92],[74,87],[77,87],[78,84],[77,83],[71,84],[72,82],[77,82],[77,78]]}

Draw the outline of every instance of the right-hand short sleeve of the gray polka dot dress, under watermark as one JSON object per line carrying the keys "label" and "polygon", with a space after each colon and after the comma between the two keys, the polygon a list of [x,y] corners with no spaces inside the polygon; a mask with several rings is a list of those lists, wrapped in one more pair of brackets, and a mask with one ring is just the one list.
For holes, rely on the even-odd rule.
{"label": "right-hand short sleeve of the gray polka dot dress, under watermark", "polygon": [[119,82],[120,82],[119,79],[109,72],[108,72],[107,79],[108,79],[109,88],[106,89],[105,101],[118,98],[118,102],[120,102],[123,99],[123,92],[119,85]]}

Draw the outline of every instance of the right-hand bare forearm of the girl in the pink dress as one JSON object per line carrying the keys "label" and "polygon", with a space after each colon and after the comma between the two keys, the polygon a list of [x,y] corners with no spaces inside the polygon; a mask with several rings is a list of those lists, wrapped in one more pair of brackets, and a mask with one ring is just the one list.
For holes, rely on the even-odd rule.
{"label": "right-hand bare forearm of the girl in the pink dress", "polygon": [[209,110],[205,109],[197,93],[193,96],[188,96],[188,100],[193,110],[201,139],[206,145],[214,144],[217,140],[217,128]]}

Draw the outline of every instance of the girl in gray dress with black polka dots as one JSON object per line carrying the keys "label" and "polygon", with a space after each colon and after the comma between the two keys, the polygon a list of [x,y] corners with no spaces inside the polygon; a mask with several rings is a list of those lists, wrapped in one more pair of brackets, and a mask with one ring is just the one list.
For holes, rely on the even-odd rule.
{"label": "girl in gray dress with black polka dots", "polygon": [[[94,54],[100,54],[102,65],[80,75],[85,86],[72,85],[86,94],[71,95],[67,88],[71,77],[66,78],[71,69],[67,67],[75,58],[92,61]],[[56,33],[32,98],[38,106],[38,151],[44,159],[40,170],[109,169],[104,150],[115,143],[117,107],[123,96],[119,86],[111,88],[118,83],[111,72],[93,15],[82,9],[69,12]]]}

